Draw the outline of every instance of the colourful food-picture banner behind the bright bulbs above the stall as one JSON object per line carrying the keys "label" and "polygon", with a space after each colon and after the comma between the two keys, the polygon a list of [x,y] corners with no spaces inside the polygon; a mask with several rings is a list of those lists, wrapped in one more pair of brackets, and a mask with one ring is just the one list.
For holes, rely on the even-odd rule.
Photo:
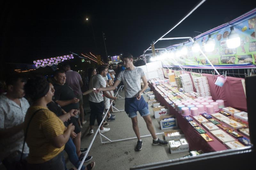
{"label": "colourful food-picture banner behind the bright bulbs above the stall", "polygon": [[[240,37],[240,46],[234,49],[227,47],[227,39],[230,34],[230,26]],[[256,9],[244,14],[242,17],[216,27],[196,37],[196,42],[201,50],[209,58],[212,65],[216,68],[255,68],[256,60]],[[215,48],[212,52],[204,50],[208,35],[215,42]],[[188,54],[174,57],[175,60],[185,68],[212,68],[206,58],[199,52],[192,51],[192,41],[185,43],[188,47]],[[182,44],[176,44],[168,47],[168,50],[177,47],[181,50]],[[178,66],[174,60],[166,59],[163,61],[164,67]]]}

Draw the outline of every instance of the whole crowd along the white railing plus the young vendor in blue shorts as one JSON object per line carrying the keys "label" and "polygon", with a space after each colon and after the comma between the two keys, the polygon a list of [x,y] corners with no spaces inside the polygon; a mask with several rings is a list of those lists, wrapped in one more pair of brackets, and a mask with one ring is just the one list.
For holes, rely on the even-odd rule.
{"label": "whole crowd along the white railing plus the young vendor in blue shorts", "polygon": [[[89,94],[90,130],[93,134],[95,120],[100,133],[110,128],[107,121],[115,121],[111,102],[117,99],[114,91],[121,82],[125,88],[125,112],[132,120],[133,130],[138,138],[135,150],[140,151],[137,111],[143,117],[153,137],[153,145],[167,145],[156,137],[148,104],[141,96],[147,88],[147,80],[142,69],[133,66],[131,54],[123,56],[124,66],[118,66],[118,76],[112,66],[88,69],[84,81],[81,75],[71,70],[68,64],[54,72],[54,81],[48,82],[44,76],[36,75],[28,79],[20,74],[7,77],[6,90],[0,96],[0,160],[9,169],[19,169],[20,160],[26,160],[27,169],[66,169],[63,150],[76,169],[80,166],[87,148],[81,148],[81,128],[84,119],[83,94],[85,89],[96,88]],[[144,87],[140,88],[142,79]],[[104,113],[104,109],[105,112]],[[102,122],[103,114],[107,114]],[[84,162],[89,162],[87,156]],[[91,170],[95,162],[82,165],[82,170]]]}

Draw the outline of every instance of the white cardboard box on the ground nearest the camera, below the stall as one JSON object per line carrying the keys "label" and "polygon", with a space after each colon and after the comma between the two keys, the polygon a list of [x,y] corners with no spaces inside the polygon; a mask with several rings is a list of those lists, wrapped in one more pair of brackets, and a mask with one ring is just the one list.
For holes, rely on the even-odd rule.
{"label": "white cardboard box on the ground nearest the camera, below the stall", "polygon": [[171,151],[171,154],[189,151],[188,142],[186,141],[185,144],[181,143],[180,140],[186,141],[185,138],[174,139],[172,141],[169,141],[169,149]]}

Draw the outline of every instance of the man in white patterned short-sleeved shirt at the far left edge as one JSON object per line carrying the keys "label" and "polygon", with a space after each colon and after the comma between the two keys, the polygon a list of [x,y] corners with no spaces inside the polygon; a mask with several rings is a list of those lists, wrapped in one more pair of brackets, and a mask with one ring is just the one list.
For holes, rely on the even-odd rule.
{"label": "man in white patterned short-sleeved shirt at the far left edge", "polygon": [[[25,79],[20,75],[8,76],[7,93],[0,96],[0,159],[7,170],[16,169],[24,142],[24,119],[29,108],[24,98]],[[22,159],[28,156],[25,143]]]}

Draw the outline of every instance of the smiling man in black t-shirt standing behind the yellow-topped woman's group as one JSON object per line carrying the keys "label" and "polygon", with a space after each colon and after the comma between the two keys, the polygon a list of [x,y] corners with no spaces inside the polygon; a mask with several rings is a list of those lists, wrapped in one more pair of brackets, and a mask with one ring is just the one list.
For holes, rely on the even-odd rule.
{"label": "smiling man in black t-shirt standing behind the yellow-topped woman's group", "polygon": [[[54,73],[54,79],[56,81],[55,84],[53,84],[55,93],[53,100],[58,103],[61,108],[65,112],[69,112],[71,109],[79,109],[79,99],[76,98],[75,93],[73,90],[68,86],[65,85],[66,82],[66,74],[63,70],[57,70]],[[78,126],[77,120],[75,117],[70,118],[70,122],[73,123],[75,126],[74,132],[76,133],[76,137],[74,138],[74,144],[76,146],[76,154],[78,158],[80,157],[81,153],[84,152],[83,149],[82,152],[80,150],[81,147],[81,130]]]}

